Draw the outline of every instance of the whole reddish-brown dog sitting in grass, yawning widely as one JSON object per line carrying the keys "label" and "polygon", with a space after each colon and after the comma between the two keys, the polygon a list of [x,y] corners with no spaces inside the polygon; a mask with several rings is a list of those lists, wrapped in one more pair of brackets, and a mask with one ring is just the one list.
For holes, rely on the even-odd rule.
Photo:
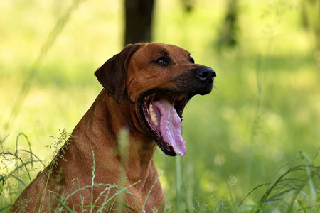
{"label": "whole reddish-brown dog sitting in grass, yawning widely", "polygon": [[[174,45],[138,43],[127,45],[95,75],[105,89],[55,159],[18,197],[14,212],[59,207],[164,212],[152,159],[156,145],[166,155],[185,155],[183,109],[194,95],[211,91],[215,72]],[[122,129],[128,136],[124,151]]]}

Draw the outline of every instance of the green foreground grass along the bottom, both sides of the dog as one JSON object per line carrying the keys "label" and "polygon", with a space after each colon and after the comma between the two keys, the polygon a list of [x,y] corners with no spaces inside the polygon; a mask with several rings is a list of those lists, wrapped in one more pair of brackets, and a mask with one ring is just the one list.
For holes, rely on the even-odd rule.
{"label": "green foreground grass along the bottom, both sides of the dog", "polygon": [[[23,150],[18,149],[19,138],[24,137],[28,142],[29,149]],[[65,149],[67,146],[67,139],[70,137],[70,134],[66,133],[65,130],[60,131],[60,136],[52,137],[55,141],[53,142],[50,148],[53,148],[53,161],[56,158],[64,158],[63,155],[60,155],[58,151],[61,149]],[[125,143],[126,143],[126,133],[122,132],[120,136],[120,143],[122,144],[122,152],[125,151]],[[124,144],[123,144],[124,143]],[[301,152],[300,158],[292,160],[291,162],[282,165],[279,168],[289,168],[284,173],[280,173],[278,170],[279,178],[274,181],[274,183],[264,183],[262,185],[258,185],[253,188],[243,199],[241,202],[237,203],[233,200],[233,187],[237,184],[238,180],[235,176],[230,176],[228,178],[229,185],[229,193],[230,197],[225,198],[223,196],[218,195],[206,195],[201,200],[195,197],[195,202],[193,203],[193,189],[192,184],[194,180],[189,181],[186,185],[183,183],[181,172],[181,161],[180,158],[176,159],[176,181],[175,181],[175,192],[176,192],[176,200],[171,207],[167,207],[166,212],[274,212],[274,211],[282,211],[282,212],[318,212],[319,210],[319,192],[320,192],[320,167],[314,165],[319,155],[320,148],[315,155],[306,155],[306,153]],[[21,153],[22,156],[21,157]],[[126,155],[125,153],[123,155]],[[24,134],[19,134],[16,139],[16,151],[15,153],[11,153],[10,151],[0,153],[0,160],[2,163],[1,170],[6,172],[6,175],[1,175],[1,187],[0,193],[2,200],[0,202],[1,212],[9,212],[9,208],[11,207],[12,202],[15,197],[21,193],[23,187],[26,187],[28,183],[31,182],[31,173],[35,170],[43,169],[45,165],[43,162],[33,154],[31,150],[30,143],[28,138]],[[113,208],[114,204],[117,204],[118,207],[122,207],[119,209],[119,212],[122,212],[124,209],[131,209],[132,212],[134,210],[122,203],[122,198],[124,193],[129,193],[127,190],[137,184],[138,182],[124,187],[122,182],[126,177],[123,177],[122,180],[119,180],[119,185],[111,185],[111,184],[102,184],[95,183],[95,153],[92,151],[92,185],[87,185],[85,187],[80,187],[80,182],[75,179],[73,180],[73,185],[78,184],[78,188],[75,187],[75,190],[71,192],[69,195],[65,195],[64,197],[55,197],[54,195],[49,195],[52,199],[58,200],[60,205],[55,209],[52,209],[53,212],[73,212],[73,209],[70,208],[66,203],[68,199],[80,193],[81,191],[87,188],[91,188],[93,190],[94,187],[105,187],[105,190],[102,190],[100,195],[93,199],[91,197],[90,204],[90,212],[92,212],[97,207],[97,202],[103,199],[102,205],[99,206],[99,209],[95,209],[97,212],[102,212],[105,208]],[[9,165],[14,164],[11,168]],[[37,168],[36,166],[39,166]],[[53,166],[55,163],[52,164]],[[162,173],[161,173],[162,174]],[[160,176],[161,176],[160,174]],[[50,179],[50,170],[48,172],[48,180]],[[187,173],[188,177],[192,175],[190,171]],[[159,176],[159,177],[160,177]],[[156,180],[156,182],[159,179]],[[154,182],[154,185],[156,184]],[[153,190],[154,185],[148,192]],[[270,186],[271,185],[271,186]],[[265,190],[265,194],[260,198],[260,200],[255,204],[245,204],[245,202],[252,196],[252,193],[258,190],[260,187],[268,187]],[[116,190],[113,195],[110,195],[111,190]],[[43,189],[43,195],[46,192],[46,187]],[[93,194],[92,194],[93,195]],[[117,202],[115,199],[117,198]],[[144,201],[144,205],[146,203]],[[80,203],[80,207],[82,212],[84,212],[85,206]],[[23,212],[23,207],[28,204],[28,200],[21,202],[21,208],[19,208],[19,212]],[[78,205],[78,204],[76,204]],[[143,207],[144,207],[143,205]],[[38,210],[38,212],[43,212],[42,207]]]}

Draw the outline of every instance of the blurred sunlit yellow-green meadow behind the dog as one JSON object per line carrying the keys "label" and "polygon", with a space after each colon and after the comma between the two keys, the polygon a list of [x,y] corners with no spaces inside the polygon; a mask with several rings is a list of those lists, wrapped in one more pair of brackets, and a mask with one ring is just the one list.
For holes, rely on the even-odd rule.
{"label": "blurred sunlit yellow-green meadow behind the dog", "polygon": [[[49,136],[73,131],[102,89],[93,72],[123,48],[124,2],[82,2],[6,129],[23,81],[72,2],[0,1],[1,148],[14,150],[23,132],[46,163],[53,158],[45,147],[53,143]],[[155,2],[154,41],[181,46],[218,73],[213,92],[194,97],[183,113],[187,153],[177,162],[181,209],[192,204],[214,211],[223,202],[236,209],[252,189],[274,182],[300,151],[314,155],[320,146],[320,56],[312,29],[303,26],[302,1],[238,1],[238,44],[221,49],[227,1],[197,0],[190,12],[179,0]],[[320,22],[319,13],[314,17]],[[20,142],[27,147],[23,138]],[[164,171],[170,212],[176,201],[175,158],[158,149],[155,161],[159,173]],[[244,204],[255,204],[265,190],[259,187]]]}

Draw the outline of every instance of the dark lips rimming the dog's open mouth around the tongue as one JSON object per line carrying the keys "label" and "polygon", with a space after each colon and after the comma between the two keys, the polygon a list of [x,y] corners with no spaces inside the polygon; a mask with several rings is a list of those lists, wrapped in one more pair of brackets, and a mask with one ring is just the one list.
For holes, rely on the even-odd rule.
{"label": "dark lips rimming the dog's open mouth around the tongue", "polygon": [[[152,102],[157,101],[167,101],[174,106],[176,113],[182,121],[183,109],[186,107],[186,104],[193,95],[189,92],[176,92],[171,90],[164,89],[154,89],[148,92],[145,92],[139,97],[139,111],[142,116],[144,126],[151,132],[151,135],[154,137],[157,145],[161,150],[170,156],[175,156],[177,153],[174,151],[174,148],[164,141],[164,138],[161,136],[160,129],[155,126],[154,122],[151,120],[149,114],[149,107]],[[152,106],[152,105],[151,105]]]}

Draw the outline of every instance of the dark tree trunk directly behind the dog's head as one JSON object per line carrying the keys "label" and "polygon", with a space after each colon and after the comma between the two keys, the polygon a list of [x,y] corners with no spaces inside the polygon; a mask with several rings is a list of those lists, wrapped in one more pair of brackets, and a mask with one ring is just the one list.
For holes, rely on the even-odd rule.
{"label": "dark tree trunk directly behind the dog's head", "polygon": [[150,42],[154,0],[126,0],[126,26],[124,45]]}

